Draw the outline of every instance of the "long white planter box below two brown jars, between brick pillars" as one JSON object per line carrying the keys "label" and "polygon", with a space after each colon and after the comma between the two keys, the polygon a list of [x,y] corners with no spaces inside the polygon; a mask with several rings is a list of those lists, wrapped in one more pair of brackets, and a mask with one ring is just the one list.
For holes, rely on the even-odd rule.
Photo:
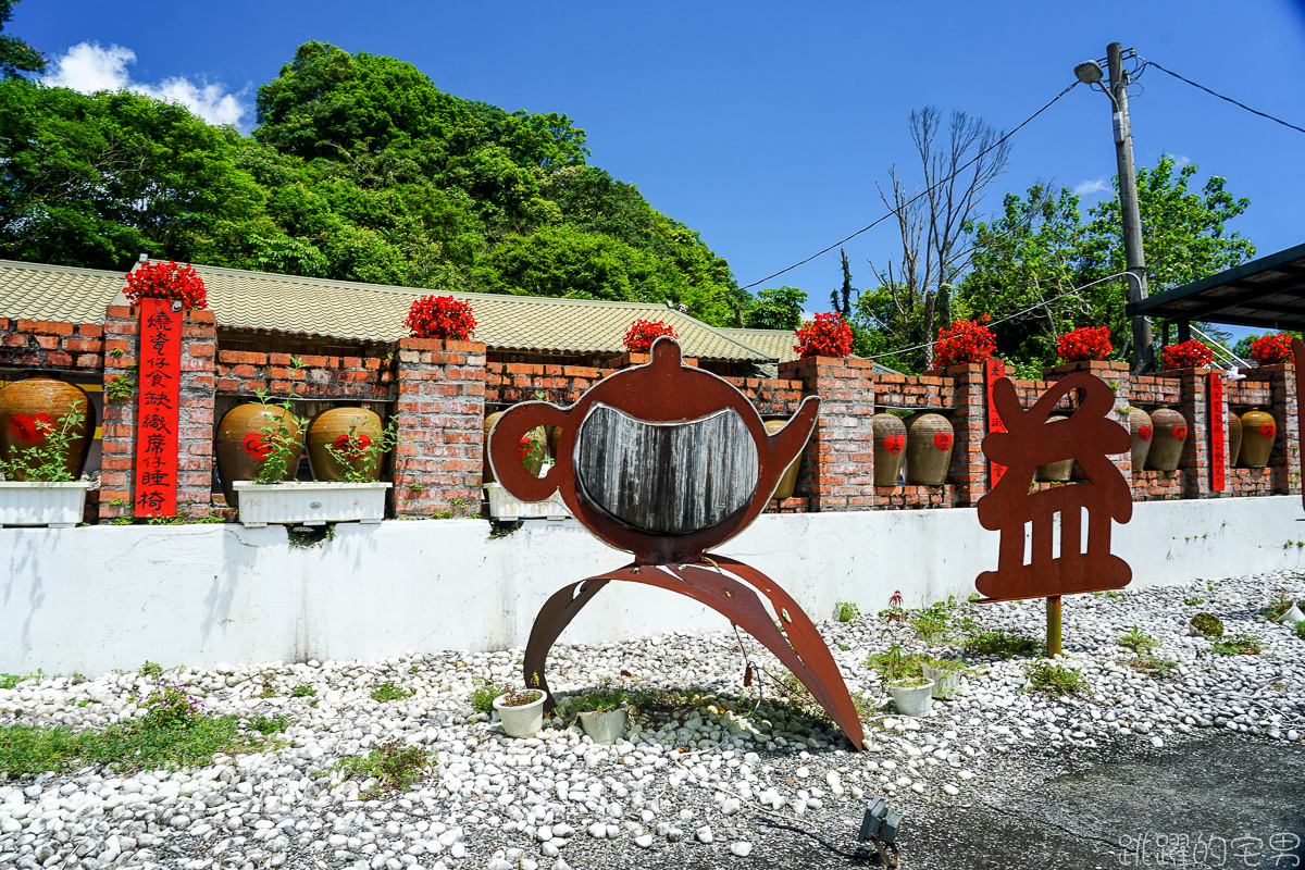
{"label": "long white planter box below two brown jars, between brick pillars", "polygon": [[231,484],[240,506],[240,523],[378,523],[385,519],[385,490],[394,484],[284,483]]}

